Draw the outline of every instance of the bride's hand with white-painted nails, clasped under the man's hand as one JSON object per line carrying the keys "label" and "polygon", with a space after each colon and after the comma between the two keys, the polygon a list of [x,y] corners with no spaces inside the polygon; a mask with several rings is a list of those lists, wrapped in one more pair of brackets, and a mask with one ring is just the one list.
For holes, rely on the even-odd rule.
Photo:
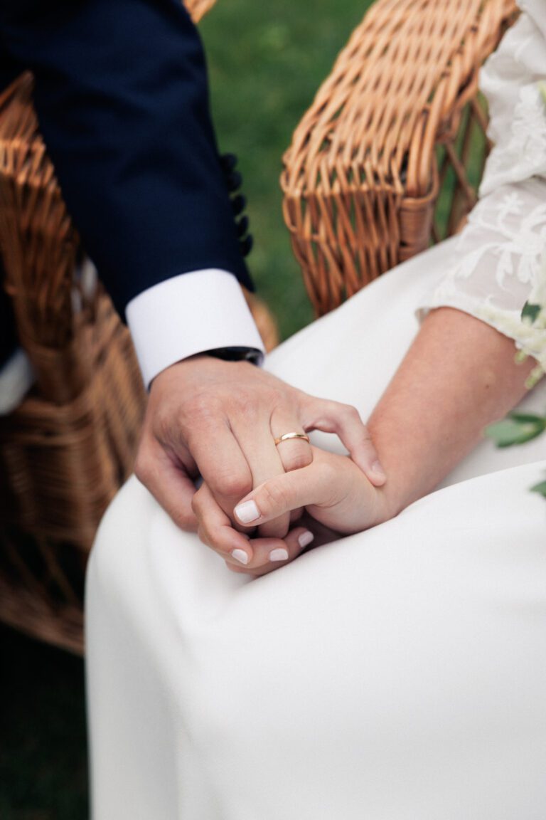
{"label": "bride's hand with white-painted nails, clasped under the man's hand", "polygon": [[[384,490],[374,487],[350,458],[311,449],[308,466],[264,481],[237,503],[235,515],[245,532],[233,529],[206,485],[197,491],[193,505],[199,536],[233,572],[264,575],[297,558],[315,534],[334,540],[391,517]],[[302,509],[305,515],[298,518]],[[261,529],[288,513],[298,517],[284,539],[255,537],[256,526]]]}

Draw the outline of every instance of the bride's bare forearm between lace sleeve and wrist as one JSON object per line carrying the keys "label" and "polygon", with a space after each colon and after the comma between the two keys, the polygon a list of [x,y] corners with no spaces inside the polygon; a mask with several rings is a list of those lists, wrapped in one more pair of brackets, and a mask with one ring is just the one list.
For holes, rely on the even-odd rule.
{"label": "bride's bare forearm between lace sleeve and wrist", "polygon": [[450,307],[423,321],[368,428],[387,475],[389,517],[430,492],[526,392],[534,359],[512,339]]}

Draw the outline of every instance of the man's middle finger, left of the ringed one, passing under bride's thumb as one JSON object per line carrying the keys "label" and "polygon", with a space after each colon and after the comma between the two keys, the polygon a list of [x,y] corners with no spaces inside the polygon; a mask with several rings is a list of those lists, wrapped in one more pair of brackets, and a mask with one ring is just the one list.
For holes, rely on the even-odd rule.
{"label": "man's middle finger, left of the ringed one, passing under bride's thumb", "polygon": [[[245,453],[246,462],[252,475],[253,487],[263,484],[264,481],[268,481],[273,476],[284,473],[284,467],[282,466],[278,448],[275,447],[268,417],[264,419],[264,423],[256,421],[252,426],[248,424],[246,426],[234,425],[233,434],[237,438],[241,451]],[[309,444],[307,446],[309,449]],[[288,513],[283,513],[277,519],[271,519],[264,527],[260,528],[259,535],[264,538],[283,538],[287,535],[289,526],[290,516]]]}

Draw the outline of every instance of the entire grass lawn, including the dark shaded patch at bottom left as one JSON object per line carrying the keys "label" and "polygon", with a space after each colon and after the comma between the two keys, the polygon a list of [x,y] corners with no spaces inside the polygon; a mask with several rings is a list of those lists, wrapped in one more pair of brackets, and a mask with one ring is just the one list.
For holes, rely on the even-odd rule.
{"label": "entire grass lawn, including the dark shaded patch at bottom left", "polygon": [[[219,143],[245,177],[250,269],[285,337],[312,312],[282,222],[281,156],[367,5],[219,0],[201,25]],[[7,629],[0,651],[0,818],[84,820],[83,663]]]}

